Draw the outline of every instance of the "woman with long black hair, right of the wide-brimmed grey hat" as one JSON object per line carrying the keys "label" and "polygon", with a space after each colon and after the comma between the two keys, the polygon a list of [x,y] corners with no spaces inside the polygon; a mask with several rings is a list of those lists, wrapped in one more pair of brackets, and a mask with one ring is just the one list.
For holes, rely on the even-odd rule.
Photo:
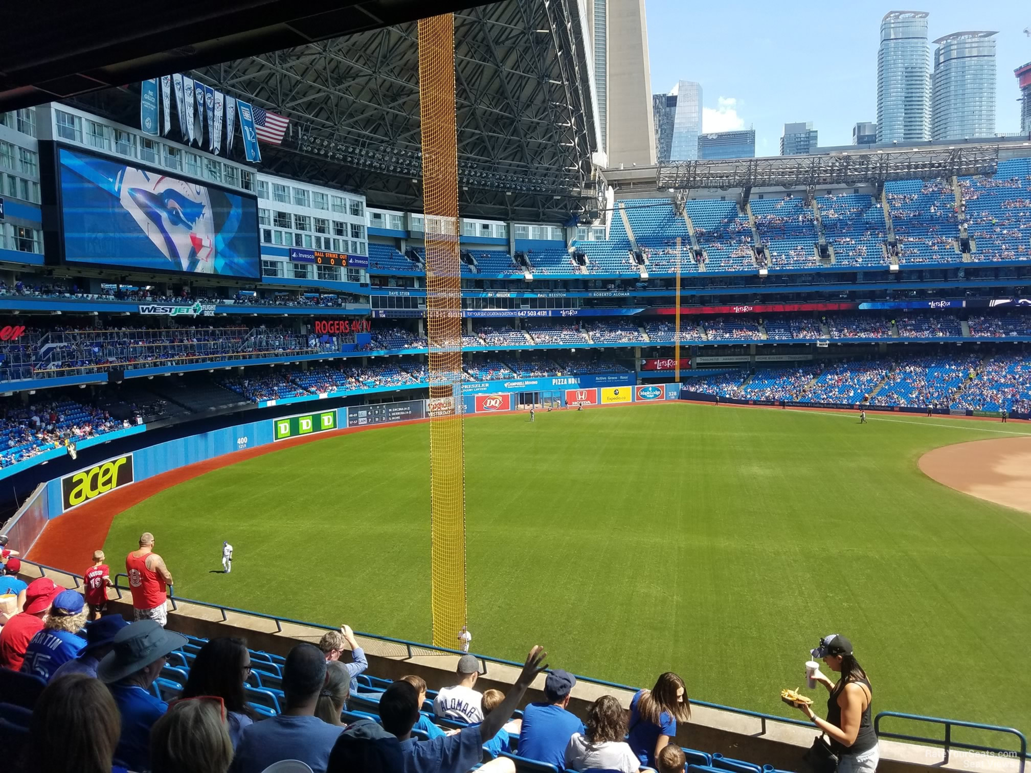
{"label": "woman with long black hair, right of the wide-brimmed grey hat", "polygon": [[247,707],[243,684],[251,674],[251,654],[243,639],[224,636],[211,639],[200,648],[190,676],[182,688],[182,698],[218,696],[226,706],[226,722],[233,748],[240,742],[240,734],[254,724],[255,714]]}

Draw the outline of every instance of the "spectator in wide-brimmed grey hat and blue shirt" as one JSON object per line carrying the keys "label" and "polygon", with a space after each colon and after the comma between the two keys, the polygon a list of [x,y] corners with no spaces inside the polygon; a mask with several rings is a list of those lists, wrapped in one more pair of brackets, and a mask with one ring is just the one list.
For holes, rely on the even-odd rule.
{"label": "spectator in wide-brimmed grey hat and blue shirt", "polygon": [[151,769],[151,728],[168,704],[151,692],[165,660],[187,643],[181,634],[165,631],[155,620],[137,620],[119,631],[111,651],[97,667],[122,714],[122,736],[114,762],[129,770]]}

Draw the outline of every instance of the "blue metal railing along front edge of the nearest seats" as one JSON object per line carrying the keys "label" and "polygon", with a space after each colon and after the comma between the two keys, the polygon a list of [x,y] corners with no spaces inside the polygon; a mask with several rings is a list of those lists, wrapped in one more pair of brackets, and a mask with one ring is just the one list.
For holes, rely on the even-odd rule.
{"label": "blue metal railing along front edge of the nearest seats", "polygon": [[[23,567],[25,567],[25,566],[34,566],[34,567],[36,567],[39,570],[40,576],[46,576],[46,572],[49,571],[49,572],[53,572],[55,574],[59,574],[59,575],[61,575],[63,577],[71,577],[74,580],[74,582],[75,582],[75,587],[76,589],[81,587],[81,577],[78,576],[78,575],[76,575],[76,574],[74,574],[73,572],[68,572],[68,571],[66,571],[64,569],[58,569],[57,567],[51,567],[51,566],[46,566],[44,564],[38,564],[36,562],[28,561],[28,560],[23,561],[22,565],[23,565]],[[126,584],[122,583],[123,579],[125,580]],[[120,601],[123,599],[124,592],[130,591],[130,587],[128,585],[128,581],[129,581],[129,576],[127,574],[125,574],[125,573],[119,573],[119,574],[114,575],[114,591],[118,594],[118,598],[119,598]],[[230,613],[230,612],[234,613],[234,614],[246,615],[246,616],[250,616],[250,617],[257,617],[259,619],[270,620],[270,621],[272,621],[272,623],[275,624],[276,632],[277,633],[281,633],[282,632],[282,624],[285,624],[285,623],[289,624],[289,625],[303,626],[305,628],[313,628],[313,629],[320,629],[320,630],[324,630],[324,631],[336,631],[336,630],[338,630],[334,626],[326,626],[326,625],[323,625],[323,624],[320,624],[320,623],[310,623],[310,621],[307,621],[307,620],[298,620],[298,619],[294,619],[294,618],[291,618],[291,617],[281,617],[281,616],[274,615],[274,614],[266,614],[264,612],[255,612],[255,611],[252,611],[250,609],[239,609],[237,607],[224,606],[224,605],[221,605],[221,604],[212,604],[212,603],[207,602],[207,601],[197,601],[196,599],[186,599],[186,598],[182,598],[182,597],[177,597],[177,596],[174,595],[174,589],[172,586],[169,586],[168,591],[169,591],[168,600],[172,604],[172,611],[176,611],[178,609],[178,603],[177,602],[181,602],[184,604],[192,604],[192,605],[199,606],[199,607],[205,607],[207,609],[213,609],[213,610],[218,611],[222,615],[222,621],[223,623],[227,623],[229,620],[228,613]],[[463,654],[466,654],[466,652],[463,652],[460,649],[451,649],[450,647],[439,647],[439,646],[436,646],[434,644],[423,644],[421,642],[409,641],[407,639],[396,639],[396,638],[393,638],[393,637],[390,637],[390,636],[380,636],[379,634],[370,634],[370,633],[365,633],[365,632],[362,632],[362,631],[355,631],[355,636],[360,636],[360,637],[365,638],[365,639],[372,639],[372,640],[375,640],[375,641],[386,642],[386,643],[389,643],[389,644],[400,645],[401,647],[404,648],[406,657],[409,658],[409,659],[417,657],[419,654],[420,650],[422,650],[422,651],[428,651],[428,652],[435,652],[435,653],[438,653],[438,654],[451,654],[451,656],[463,656]],[[489,673],[488,664],[492,664],[492,663],[493,664],[497,664],[497,665],[512,667],[512,668],[516,668],[516,669],[522,669],[523,668],[523,664],[522,663],[517,663],[516,661],[507,661],[507,660],[504,660],[502,658],[492,658],[490,656],[485,656],[485,654],[474,654],[474,657],[476,658],[477,661],[479,661],[480,669],[481,669],[480,670],[480,674],[484,675],[484,676],[486,676]],[[628,684],[621,684],[620,682],[614,682],[614,681],[606,681],[604,679],[596,679],[596,678],[593,678],[593,677],[590,677],[590,676],[580,676],[579,674],[576,674],[575,677],[576,677],[577,681],[584,681],[584,682],[587,682],[587,683],[590,683],[590,684],[598,684],[598,685],[605,686],[605,687],[612,687],[614,690],[623,690],[623,691],[628,691],[628,692],[631,692],[631,693],[634,693],[634,692],[636,692],[638,690],[638,687],[632,687],[632,686],[630,686]],[[705,708],[716,709],[716,710],[719,710],[719,711],[727,711],[729,713],[737,714],[739,716],[747,716],[747,717],[759,719],[760,720],[761,730],[760,730],[760,732],[757,735],[760,735],[760,736],[766,735],[766,733],[767,733],[767,727],[766,726],[767,726],[768,721],[781,722],[781,724],[785,724],[785,725],[794,725],[796,727],[805,728],[806,730],[811,730],[812,729],[812,722],[809,722],[809,721],[806,721],[806,720],[803,720],[803,719],[795,719],[795,718],[788,717],[788,716],[778,716],[776,714],[767,714],[767,713],[764,713],[762,711],[751,711],[749,709],[736,708],[734,706],[725,706],[725,705],[720,704],[720,703],[710,703],[708,701],[699,701],[699,700],[696,700],[696,699],[692,699],[691,703],[692,703],[692,705],[695,705],[695,706],[703,706]],[[882,732],[880,731],[880,720],[884,717],[896,717],[896,718],[901,718],[901,719],[910,719],[910,720],[913,720],[913,721],[922,721],[922,722],[930,722],[930,724],[936,724],[936,725],[943,725],[944,728],[945,728],[945,735],[944,735],[944,738],[942,739],[942,738],[926,738],[926,737],[923,737],[923,736],[910,736],[910,735],[900,734],[900,733]],[[878,738],[894,739],[894,740],[901,740],[901,741],[910,741],[910,742],[923,743],[923,744],[928,744],[928,745],[931,745],[931,746],[936,746],[936,747],[942,748],[944,750],[944,764],[949,763],[949,752],[950,752],[950,749],[956,748],[956,749],[963,749],[963,750],[970,750],[970,751],[979,751],[979,752],[990,753],[990,754],[997,754],[997,755],[1000,755],[1000,757],[1015,758],[1015,759],[1017,759],[1019,761],[1019,770],[1018,770],[1018,773],[1024,773],[1024,770],[1025,770],[1025,764],[1027,762],[1027,738],[1024,736],[1023,733],[1021,733],[1019,730],[1016,730],[1015,728],[1006,728],[1006,727],[996,726],[996,725],[984,725],[984,724],[980,724],[980,722],[968,722],[968,721],[964,721],[964,720],[961,720],[961,719],[943,719],[941,717],[924,716],[922,714],[906,714],[906,713],[901,713],[901,712],[897,712],[897,711],[882,711],[882,712],[878,712],[877,715],[874,717],[873,728],[874,728],[874,732],[876,733],[876,735],[877,735]],[[966,742],[962,742],[962,741],[953,740],[953,737],[952,737],[952,729],[953,728],[968,728],[968,729],[971,729],[971,730],[978,730],[978,731],[985,731],[985,732],[995,732],[995,733],[1004,733],[1004,734],[1016,736],[1017,739],[1020,741],[1020,750],[1019,751],[1015,751],[1012,749],[1004,749],[1004,748],[1001,748],[1001,747],[985,746],[985,745],[980,745],[980,744],[971,744],[971,743],[966,743]]]}

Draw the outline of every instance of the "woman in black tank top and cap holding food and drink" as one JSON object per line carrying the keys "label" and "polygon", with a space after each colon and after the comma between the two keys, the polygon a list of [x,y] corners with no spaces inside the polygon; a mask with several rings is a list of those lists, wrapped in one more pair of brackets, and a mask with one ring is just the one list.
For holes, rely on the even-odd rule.
{"label": "woman in black tank top and cap holding food and drink", "polygon": [[852,652],[852,642],[838,634],[825,636],[812,657],[822,658],[841,678],[835,683],[820,671],[813,676],[831,694],[826,719],[817,716],[808,704],[799,708],[830,741],[838,758],[837,773],[873,773],[880,761],[870,710],[873,694],[866,672]]}

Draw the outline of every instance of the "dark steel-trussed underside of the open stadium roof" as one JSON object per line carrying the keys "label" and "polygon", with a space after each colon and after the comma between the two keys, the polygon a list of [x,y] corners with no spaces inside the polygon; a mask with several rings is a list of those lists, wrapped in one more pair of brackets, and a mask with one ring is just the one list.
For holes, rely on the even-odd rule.
{"label": "dark steel-trussed underside of the open stadium roof", "polygon": [[[594,201],[600,139],[580,6],[505,0],[455,14],[463,216],[565,222]],[[281,145],[262,145],[265,171],[422,210],[417,23],[188,74],[291,120]],[[132,92],[84,106],[138,120]]]}

